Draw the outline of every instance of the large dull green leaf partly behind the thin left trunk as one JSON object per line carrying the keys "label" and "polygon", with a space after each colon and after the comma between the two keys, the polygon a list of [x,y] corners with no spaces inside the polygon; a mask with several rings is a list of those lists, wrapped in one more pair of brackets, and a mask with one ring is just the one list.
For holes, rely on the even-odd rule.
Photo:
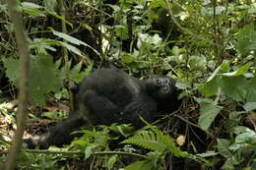
{"label": "large dull green leaf partly behind the thin left trunk", "polygon": [[[3,59],[8,78],[13,85],[19,87],[20,65],[18,59]],[[52,58],[48,55],[38,54],[31,57],[31,72],[29,79],[30,100],[38,105],[44,105],[48,92],[57,91],[62,86],[60,72],[56,69]]]}

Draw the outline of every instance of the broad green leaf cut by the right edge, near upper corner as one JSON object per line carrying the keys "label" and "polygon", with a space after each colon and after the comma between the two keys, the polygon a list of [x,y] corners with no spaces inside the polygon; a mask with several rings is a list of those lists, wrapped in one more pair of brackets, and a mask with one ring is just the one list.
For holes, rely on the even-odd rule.
{"label": "broad green leaf cut by the right edge, near upper corner", "polygon": [[236,47],[242,55],[246,55],[251,50],[256,50],[256,31],[254,24],[246,25],[239,30]]}

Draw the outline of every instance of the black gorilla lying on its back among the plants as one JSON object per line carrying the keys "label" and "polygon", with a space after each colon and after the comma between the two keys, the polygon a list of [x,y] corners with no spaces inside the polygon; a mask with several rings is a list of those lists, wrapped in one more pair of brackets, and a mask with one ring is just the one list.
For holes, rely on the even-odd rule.
{"label": "black gorilla lying on its back among the plants", "polygon": [[179,94],[171,78],[156,76],[142,81],[114,67],[93,72],[72,90],[75,101],[71,116],[48,133],[26,140],[30,148],[69,143],[73,139],[70,133],[83,125],[126,123],[141,128],[140,116],[152,122],[158,112],[173,111]]}

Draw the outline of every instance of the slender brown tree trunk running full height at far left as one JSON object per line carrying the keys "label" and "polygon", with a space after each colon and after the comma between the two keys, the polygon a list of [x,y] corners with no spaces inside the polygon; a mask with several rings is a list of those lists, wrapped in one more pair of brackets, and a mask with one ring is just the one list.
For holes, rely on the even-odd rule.
{"label": "slender brown tree trunk running full height at far left", "polygon": [[28,93],[29,93],[29,70],[30,56],[29,46],[25,36],[22,9],[16,0],[8,0],[8,9],[11,20],[14,24],[16,40],[20,54],[20,90],[19,90],[19,113],[17,116],[17,131],[12,142],[9,154],[6,159],[5,170],[13,170],[16,166],[16,159],[21,148],[22,138],[26,128],[28,117]]}

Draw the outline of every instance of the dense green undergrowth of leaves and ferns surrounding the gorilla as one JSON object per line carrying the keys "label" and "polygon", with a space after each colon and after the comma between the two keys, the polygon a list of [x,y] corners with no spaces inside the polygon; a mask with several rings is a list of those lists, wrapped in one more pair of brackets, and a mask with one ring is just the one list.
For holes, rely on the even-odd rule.
{"label": "dense green undergrowth of leaves and ferns surrounding the gorilla", "polygon": [[[21,3],[32,60],[27,134],[66,116],[63,80],[79,83],[106,63],[139,78],[174,78],[182,104],[137,132],[96,127],[63,148],[23,150],[18,169],[256,169],[254,0],[64,2]],[[19,56],[3,1],[0,23],[4,161],[16,127]]]}

